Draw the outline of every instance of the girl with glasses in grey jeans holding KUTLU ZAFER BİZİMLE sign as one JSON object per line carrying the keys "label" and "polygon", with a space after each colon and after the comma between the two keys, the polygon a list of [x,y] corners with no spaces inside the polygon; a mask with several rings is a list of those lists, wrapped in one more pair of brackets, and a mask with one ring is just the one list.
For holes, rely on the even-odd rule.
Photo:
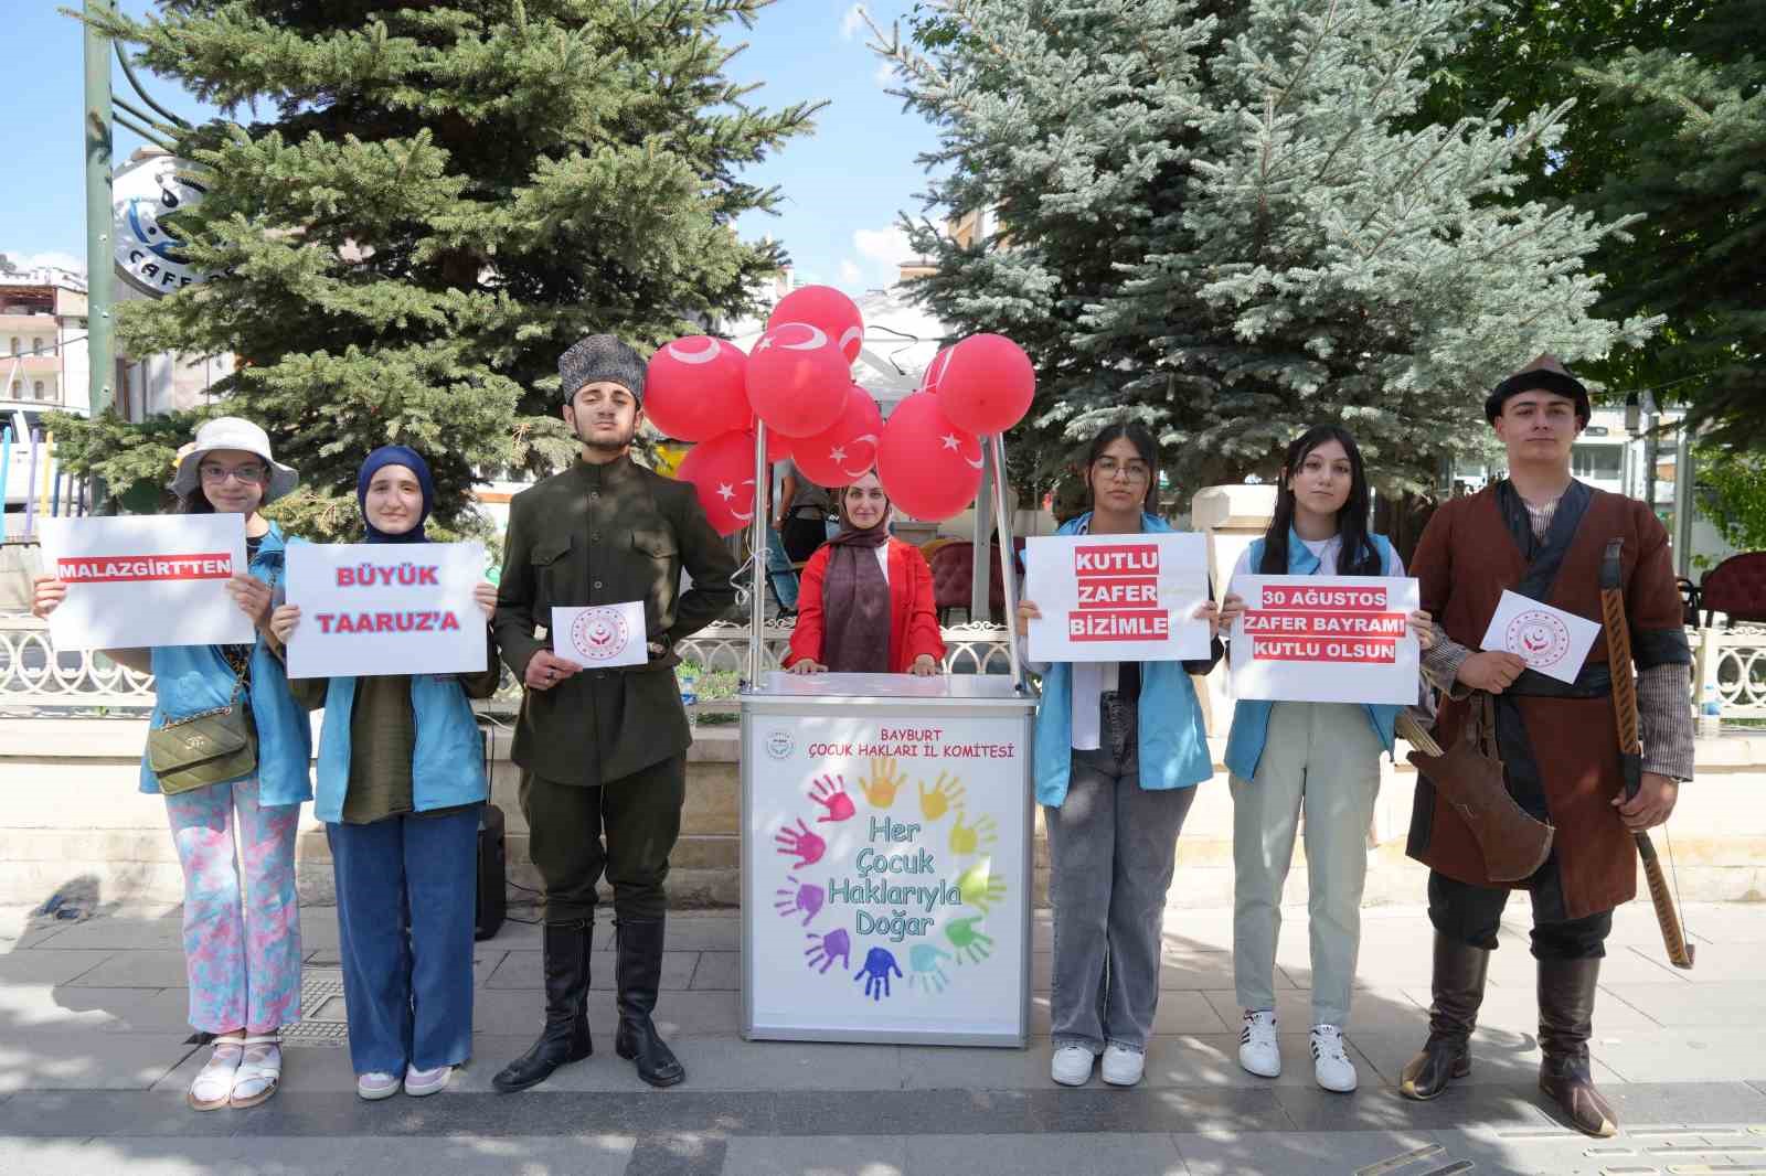
{"label": "girl with glasses in grey jeans holding KUTLU ZAFER B\u0130Z\u0130MLE sign", "polygon": [[[1091,509],[1061,535],[1169,531],[1153,514],[1158,454],[1139,424],[1107,426],[1086,457]],[[1042,616],[1030,600],[1019,622]],[[1210,600],[1197,616],[1219,627]],[[1134,1086],[1158,1008],[1160,931],[1178,832],[1213,775],[1190,673],[1204,662],[1054,662],[1042,675],[1033,772],[1049,832],[1054,1056],[1049,1075]]]}

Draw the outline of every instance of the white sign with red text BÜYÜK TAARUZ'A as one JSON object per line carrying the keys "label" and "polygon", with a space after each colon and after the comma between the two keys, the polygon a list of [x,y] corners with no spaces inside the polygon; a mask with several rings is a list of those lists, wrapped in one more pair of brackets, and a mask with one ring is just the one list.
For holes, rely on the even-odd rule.
{"label": "white sign with red text B\u00dcY\u00dcK TAARUZ'A", "polygon": [[484,544],[288,544],[288,676],[480,673],[480,579]]}

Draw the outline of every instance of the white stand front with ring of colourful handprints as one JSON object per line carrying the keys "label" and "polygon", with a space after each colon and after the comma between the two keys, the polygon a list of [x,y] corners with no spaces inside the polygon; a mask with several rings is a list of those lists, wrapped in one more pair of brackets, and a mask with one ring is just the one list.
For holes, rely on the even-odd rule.
{"label": "white stand front with ring of colourful handprints", "polygon": [[858,701],[745,720],[749,1031],[1015,1045],[1028,712],[908,719]]}

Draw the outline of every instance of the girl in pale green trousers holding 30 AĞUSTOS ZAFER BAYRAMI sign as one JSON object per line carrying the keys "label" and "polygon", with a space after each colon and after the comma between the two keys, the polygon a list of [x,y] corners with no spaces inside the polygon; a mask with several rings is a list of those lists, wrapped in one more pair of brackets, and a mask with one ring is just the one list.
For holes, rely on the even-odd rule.
{"label": "girl in pale green trousers holding 30 A\u011eUSTOS ZAFER BAYRAMI sign", "polygon": [[[1367,530],[1362,452],[1337,426],[1316,426],[1287,447],[1270,530],[1233,569],[1240,576],[1404,576],[1385,535]],[[1227,584],[1222,627],[1243,600]],[[1430,641],[1427,613],[1411,632]],[[1233,973],[1245,1010],[1238,1059],[1277,1077],[1275,938],[1282,885],[1305,812],[1312,925],[1312,1074],[1324,1089],[1356,1086],[1342,1044],[1362,941],[1367,830],[1379,795],[1379,756],[1392,752],[1397,706],[1240,701],[1226,765],[1233,786]]]}

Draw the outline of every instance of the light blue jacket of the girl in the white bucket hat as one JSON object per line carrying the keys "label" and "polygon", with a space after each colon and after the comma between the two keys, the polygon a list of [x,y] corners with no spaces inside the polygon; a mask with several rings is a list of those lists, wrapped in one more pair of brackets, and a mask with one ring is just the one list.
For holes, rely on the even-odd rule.
{"label": "light blue jacket of the girl in the white bucket hat", "polygon": [[[272,588],[283,579],[283,531],[274,523],[258,554],[251,560],[251,574]],[[226,706],[233,697],[233,667],[226,664],[214,645],[162,645],[154,653],[154,715],[148,727],[159,729],[170,720],[185,719],[203,710]],[[298,805],[313,800],[313,727],[307,712],[288,692],[283,662],[263,645],[260,636],[251,650],[251,719],[258,727],[258,803]],[[245,779],[245,777],[238,777]],[[159,777],[141,756],[141,791],[157,793]]]}

